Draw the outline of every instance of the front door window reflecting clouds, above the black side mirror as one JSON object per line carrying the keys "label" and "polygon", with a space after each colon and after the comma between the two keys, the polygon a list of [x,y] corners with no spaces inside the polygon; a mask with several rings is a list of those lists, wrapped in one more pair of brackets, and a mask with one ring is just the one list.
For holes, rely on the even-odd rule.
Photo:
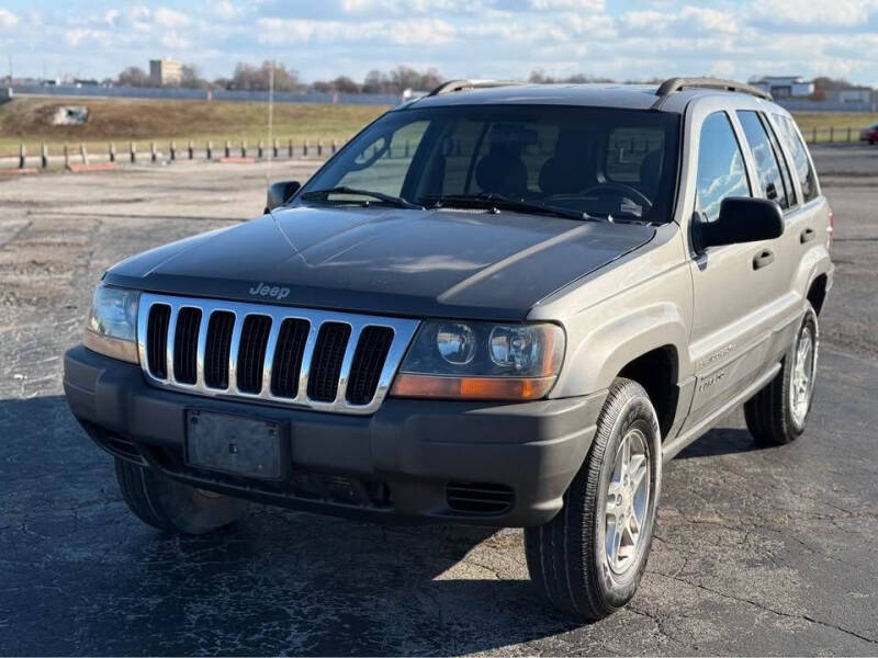
{"label": "front door window reflecting clouds, above the black side mirror", "polygon": [[727,196],[750,196],[744,157],[724,112],[714,112],[701,126],[698,150],[698,204],[701,216],[714,222]]}

